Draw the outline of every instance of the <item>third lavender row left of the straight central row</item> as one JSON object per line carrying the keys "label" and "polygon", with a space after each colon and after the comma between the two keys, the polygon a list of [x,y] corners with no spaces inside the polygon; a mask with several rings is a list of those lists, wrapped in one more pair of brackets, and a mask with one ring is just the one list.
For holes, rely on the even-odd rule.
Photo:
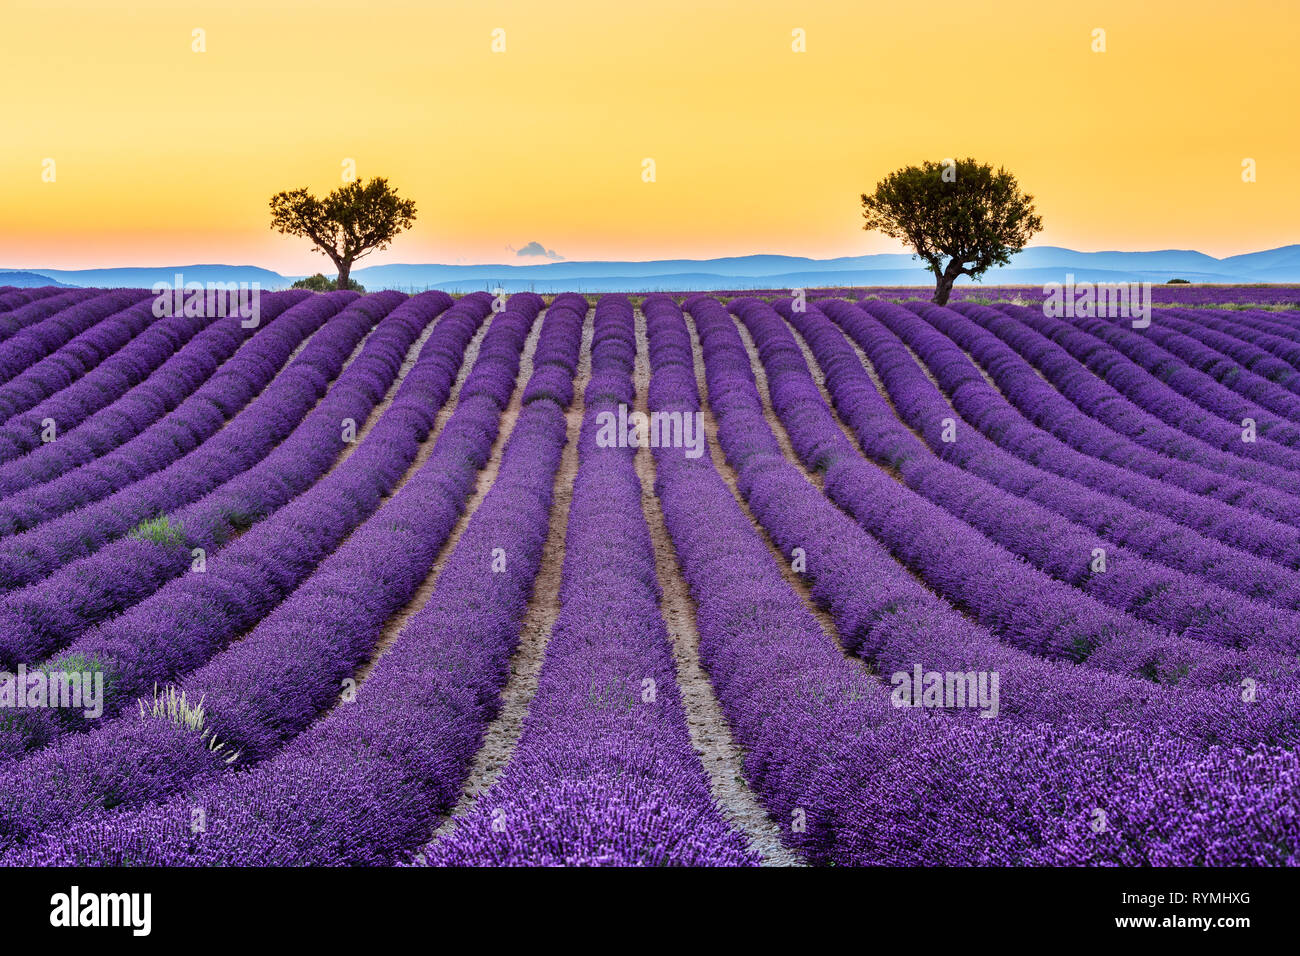
{"label": "third lavender row left of the straight central row", "polygon": [[[419,334],[443,293],[403,303],[394,321]],[[248,631],[311,575],[380,507],[415,460],[450,395],[465,346],[488,313],[488,297],[463,298],[443,313],[393,403],[356,451],[274,516],[255,524],[188,574],[74,641],[49,670],[90,666],[104,674],[103,713],[187,674]],[[25,714],[0,734],[0,752],[42,745],[82,723],[78,711]]]}

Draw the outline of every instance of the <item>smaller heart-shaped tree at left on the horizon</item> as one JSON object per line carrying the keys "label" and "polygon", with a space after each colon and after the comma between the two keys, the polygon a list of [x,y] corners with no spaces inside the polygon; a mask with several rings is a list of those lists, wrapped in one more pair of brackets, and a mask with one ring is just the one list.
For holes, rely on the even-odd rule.
{"label": "smaller heart-shaped tree at left on the horizon", "polygon": [[374,177],[350,182],[317,199],[306,189],[270,198],[270,225],[287,235],[302,235],[328,255],[338,268],[337,287],[347,289],[352,263],[415,222],[415,203],[398,196],[389,181]]}

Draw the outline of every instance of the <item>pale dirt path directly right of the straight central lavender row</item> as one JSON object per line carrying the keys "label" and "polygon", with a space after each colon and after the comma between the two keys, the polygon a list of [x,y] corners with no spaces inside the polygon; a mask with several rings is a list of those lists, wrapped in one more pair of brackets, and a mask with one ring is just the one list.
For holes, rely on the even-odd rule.
{"label": "pale dirt path directly right of the straight central lavender row", "polygon": [[[637,410],[646,412],[649,411],[650,359],[646,343],[646,320],[641,310],[636,311],[636,336]],[[698,343],[696,345],[698,347]],[[708,429],[708,440],[716,459],[716,441],[712,429]],[[690,732],[692,747],[699,754],[705,771],[708,774],[714,800],[732,826],[744,832],[754,849],[763,855],[763,865],[801,866],[802,861],[781,843],[780,827],[767,816],[758,796],[745,779],[744,754],[732,737],[731,726],[723,715],[716,696],[714,696],[708,674],[699,661],[696,600],[692,597],[686,579],[677,564],[677,551],[668,535],[659,498],[654,493],[654,455],[650,449],[641,447],[637,449],[634,460],[637,476],[641,479],[641,506],[650,525],[650,541],[654,545],[655,574],[663,594],[659,610],[672,643],[672,654],[677,666],[677,688],[681,691],[681,702],[686,711],[686,728]]]}

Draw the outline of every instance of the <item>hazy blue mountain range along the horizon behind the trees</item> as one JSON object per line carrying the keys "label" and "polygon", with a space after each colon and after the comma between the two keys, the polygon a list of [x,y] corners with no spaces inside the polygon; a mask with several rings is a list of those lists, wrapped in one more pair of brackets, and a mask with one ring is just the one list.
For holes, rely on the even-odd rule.
{"label": "hazy blue mountain range along the horizon behind the trees", "polygon": [[[172,282],[257,282],[282,289],[302,276],[281,276],[255,265],[168,265],[122,269],[0,271],[0,285],[138,286]],[[1043,285],[1065,281],[1166,282],[1300,282],[1300,245],[1216,259],[1193,250],[1157,252],[1079,252],[1060,246],[1032,246],[1010,265],[991,269],[985,285]],[[18,281],[14,281],[17,277]],[[907,254],[805,259],[751,255],[725,259],[658,259],[650,261],[556,261],[538,265],[374,265],[352,278],[367,289],[443,289],[473,291],[685,291],[718,289],[815,289],[832,286],[931,285],[933,278]],[[963,277],[965,280],[965,277]]]}

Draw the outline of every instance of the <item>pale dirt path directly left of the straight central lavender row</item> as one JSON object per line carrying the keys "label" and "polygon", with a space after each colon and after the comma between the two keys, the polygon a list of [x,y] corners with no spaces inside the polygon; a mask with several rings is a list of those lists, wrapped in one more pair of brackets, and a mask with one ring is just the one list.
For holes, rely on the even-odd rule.
{"label": "pale dirt path directly left of the straight central lavender row", "polygon": [[546,645],[551,628],[560,614],[560,579],[564,566],[564,535],[568,531],[569,503],[573,481],[577,479],[578,432],[582,427],[585,403],[582,393],[592,380],[592,336],[595,330],[594,313],[588,310],[582,323],[582,343],[578,350],[577,373],[573,378],[573,402],[564,412],[566,438],[560,454],[560,467],[555,472],[551,498],[550,524],[542,546],[542,563],[533,581],[533,593],[520,627],[519,646],[510,661],[510,679],[502,688],[502,706],[488,726],[482,745],[474,754],[469,775],[455,809],[434,830],[438,839],[455,829],[456,822],[473,806],[474,800],[497,782],[519,744],[519,735],[528,718],[528,708],[537,693],[537,679],[546,659]]}

